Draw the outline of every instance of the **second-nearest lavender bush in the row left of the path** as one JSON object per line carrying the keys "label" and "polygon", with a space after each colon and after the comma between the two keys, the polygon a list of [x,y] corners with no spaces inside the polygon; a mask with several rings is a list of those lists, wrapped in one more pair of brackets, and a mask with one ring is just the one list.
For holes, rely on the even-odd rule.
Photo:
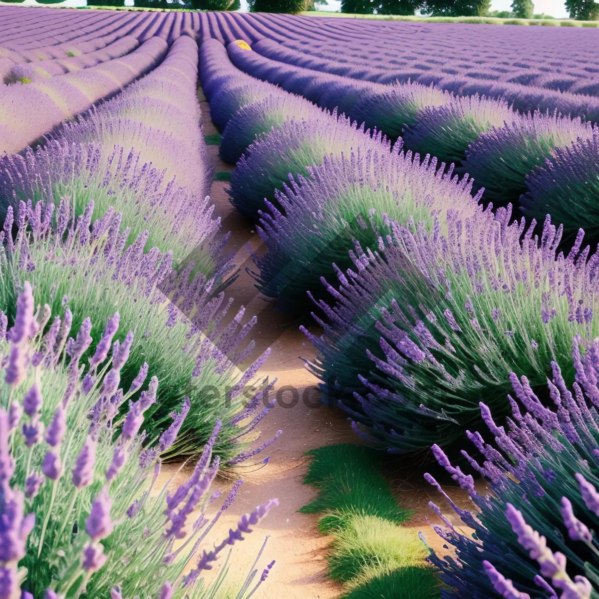
{"label": "second-nearest lavender bush in the row left of the path", "polygon": [[[187,395],[190,414],[171,455],[195,452],[198,442],[210,436],[218,417],[223,422],[219,451],[223,458],[231,458],[235,444],[241,443],[240,448],[245,444],[235,426],[244,386],[252,382],[268,356],[267,351],[245,373],[238,367],[252,356],[254,343],[244,340],[256,318],[241,326],[241,308],[226,323],[232,299],[225,302],[223,292],[212,293],[214,279],[201,273],[191,278],[193,263],[177,273],[170,252],[154,247],[143,253],[147,231],[123,249],[128,234],[120,232],[122,214],[114,208],[90,228],[93,204],[80,217],[69,204],[69,198],[63,198],[57,210],[43,202],[35,210],[31,203],[20,204],[14,240],[9,208],[0,271],[1,305],[8,317],[14,317],[19,281],[25,278],[34,287],[36,301],[48,303],[51,313],[62,319],[62,329],[54,334],[63,343],[69,328],[81,326],[77,315],[86,313],[93,323],[103,323],[118,309],[120,331],[136,331],[138,340],[122,369],[123,385],[137,394],[139,376],[156,376],[161,381],[158,402],[145,413],[149,434],[164,427],[180,398]],[[92,327],[89,334],[89,354],[104,343],[110,346],[103,328]],[[125,342],[124,337],[117,337]]]}

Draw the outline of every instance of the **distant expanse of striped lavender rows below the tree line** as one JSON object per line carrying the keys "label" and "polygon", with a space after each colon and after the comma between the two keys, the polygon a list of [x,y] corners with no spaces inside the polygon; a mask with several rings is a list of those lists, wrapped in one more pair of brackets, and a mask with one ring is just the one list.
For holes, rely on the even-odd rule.
{"label": "distant expanse of striped lavender rows below the tree line", "polygon": [[84,33],[81,41],[129,35],[141,43],[153,36],[172,43],[193,30],[200,39],[223,44],[268,40],[266,56],[358,81],[434,82],[459,95],[503,96],[525,111],[557,107],[562,114],[596,118],[599,110],[594,29],[528,29],[523,59],[514,50],[522,46],[522,29],[510,26],[435,23],[431,29],[423,23],[269,14],[2,11],[9,17],[0,26],[0,46],[27,60],[68,46],[80,37],[77,28]]}

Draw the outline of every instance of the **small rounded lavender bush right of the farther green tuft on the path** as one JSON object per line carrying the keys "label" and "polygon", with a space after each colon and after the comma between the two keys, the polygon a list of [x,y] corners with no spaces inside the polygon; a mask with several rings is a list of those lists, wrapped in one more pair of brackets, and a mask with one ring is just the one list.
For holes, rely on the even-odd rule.
{"label": "small rounded lavender bush right of the farther green tuft on the path", "polygon": [[220,158],[237,164],[247,148],[264,139],[271,129],[279,129],[292,118],[310,120],[320,114],[305,98],[289,93],[271,94],[262,101],[247,104],[226,124],[220,140]]}

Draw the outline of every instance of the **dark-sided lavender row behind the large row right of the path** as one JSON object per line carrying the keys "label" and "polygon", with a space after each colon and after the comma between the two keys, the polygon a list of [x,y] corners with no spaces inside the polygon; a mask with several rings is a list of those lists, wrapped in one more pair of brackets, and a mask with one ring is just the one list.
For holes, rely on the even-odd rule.
{"label": "dark-sided lavender row behind the large row right of the path", "polygon": [[[276,46],[262,40],[253,49],[269,54],[276,53]],[[592,149],[597,140],[588,140],[597,136],[592,123],[599,113],[586,114],[588,120],[561,116],[553,107],[552,114],[520,114],[504,99],[453,96],[432,84],[356,84],[348,77],[321,74],[230,47],[235,65],[249,74],[301,93],[322,108],[337,108],[352,122],[377,128],[392,140],[401,136],[404,147],[413,152],[455,163],[459,172],[474,177],[476,189],[485,188],[485,198],[496,205],[518,205],[526,193],[522,204],[528,214],[542,219],[555,210],[567,237],[573,238],[578,228],[576,214],[573,218],[561,205],[568,185],[576,184],[582,192],[581,212],[591,222],[597,220],[594,190],[584,191],[581,179],[595,180],[597,173],[597,150]],[[565,150],[571,142],[577,142],[573,152]],[[558,148],[564,150],[556,154]],[[582,164],[579,155],[586,157]],[[546,163],[549,158],[553,162]],[[588,232],[594,230],[592,225]]]}

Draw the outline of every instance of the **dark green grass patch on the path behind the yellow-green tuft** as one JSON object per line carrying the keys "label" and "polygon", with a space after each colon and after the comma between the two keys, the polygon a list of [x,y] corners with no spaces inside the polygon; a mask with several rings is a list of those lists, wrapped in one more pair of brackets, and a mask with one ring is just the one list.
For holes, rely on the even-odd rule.
{"label": "dark green grass patch on the path behind the yellow-green tuft", "polygon": [[381,474],[381,452],[343,443],[319,447],[306,455],[313,459],[304,484],[320,489],[320,493],[299,512],[328,512],[320,521],[322,531],[343,527],[343,521],[353,515],[378,516],[395,524],[412,515],[397,505]]}

